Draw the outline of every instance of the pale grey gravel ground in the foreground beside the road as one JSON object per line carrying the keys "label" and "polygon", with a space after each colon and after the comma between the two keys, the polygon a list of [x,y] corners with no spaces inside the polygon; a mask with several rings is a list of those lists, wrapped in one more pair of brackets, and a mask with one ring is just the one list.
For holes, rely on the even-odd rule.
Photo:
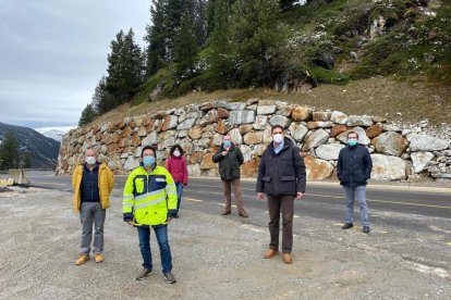
{"label": "pale grey gravel ground in the foreground beside the road", "polygon": [[[203,213],[186,201],[170,224],[173,274],[160,272],[155,235],[155,272],[143,282],[136,229],[122,222],[121,199],[112,199],[105,225],[106,261],[75,266],[81,226],[72,195],[29,188],[0,193],[1,299],[450,299],[449,218],[399,214],[429,226],[432,234],[386,228],[370,235],[359,228],[296,212],[294,262],[264,260],[269,234],[253,218]],[[379,215],[383,217],[383,215]],[[392,214],[391,214],[392,217]]]}

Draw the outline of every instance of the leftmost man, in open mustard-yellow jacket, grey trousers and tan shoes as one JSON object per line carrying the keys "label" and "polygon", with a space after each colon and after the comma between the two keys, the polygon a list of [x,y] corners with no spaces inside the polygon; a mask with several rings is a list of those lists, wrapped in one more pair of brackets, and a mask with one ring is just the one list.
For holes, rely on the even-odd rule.
{"label": "leftmost man, in open mustard-yellow jacket, grey trousers and tan shoes", "polygon": [[106,210],[110,207],[110,193],[114,179],[111,170],[97,162],[97,152],[87,149],[85,163],[75,167],[72,175],[74,188],[73,209],[80,212],[82,223],[82,240],[80,257],[76,265],[84,264],[90,257],[90,243],[93,241],[93,225],[95,228],[93,253],[95,261],[103,261],[103,223]]}

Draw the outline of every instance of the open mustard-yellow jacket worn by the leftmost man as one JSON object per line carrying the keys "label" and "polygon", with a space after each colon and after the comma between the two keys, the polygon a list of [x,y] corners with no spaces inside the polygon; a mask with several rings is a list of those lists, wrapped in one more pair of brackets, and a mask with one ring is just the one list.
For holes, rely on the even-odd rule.
{"label": "open mustard-yellow jacket worn by the leftmost man", "polygon": [[[82,185],[84,165],[80,164],[75,167],[74,173],[72,174],[72,187],[74,189],[74,198],[72,201],[72,207],[74,212],[80,212],[80,205],[82,204],[82,199],[80,195],[80,186]],[[101,163],[99,165],[99,191],[100,191],[100,204],[102,209],[108,209],[110,207],[110,193],[114,186],[114,177],[111,170],[107,164]]]}

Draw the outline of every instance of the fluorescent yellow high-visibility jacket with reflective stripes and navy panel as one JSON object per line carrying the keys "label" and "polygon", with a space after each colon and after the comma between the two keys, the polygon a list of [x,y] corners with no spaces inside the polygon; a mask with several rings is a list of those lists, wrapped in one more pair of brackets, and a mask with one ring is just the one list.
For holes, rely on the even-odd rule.
{"label": "fluorescent yellow high-visibility jacket with reflective stripes and navy panel", "polygon": [[144,166],[132,171],[122,200],[125,222],[133,221],[135,226],[164,225],[175,209],[176,189],[168,170],[157,165],[150,173]]}

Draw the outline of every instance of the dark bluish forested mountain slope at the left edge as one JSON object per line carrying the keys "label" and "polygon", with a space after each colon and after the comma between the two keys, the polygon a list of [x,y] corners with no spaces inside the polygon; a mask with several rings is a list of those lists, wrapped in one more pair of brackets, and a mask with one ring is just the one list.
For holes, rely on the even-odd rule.
{"label": "dark bluish forested mountain slope at the left edge", "polygon": [[58,161],[60,142],[48,138],[35,129],[0,122],[0,140],[8,132],[12,132],[19,141],[21,151],[29,151],[33,167],[53,167]]}

